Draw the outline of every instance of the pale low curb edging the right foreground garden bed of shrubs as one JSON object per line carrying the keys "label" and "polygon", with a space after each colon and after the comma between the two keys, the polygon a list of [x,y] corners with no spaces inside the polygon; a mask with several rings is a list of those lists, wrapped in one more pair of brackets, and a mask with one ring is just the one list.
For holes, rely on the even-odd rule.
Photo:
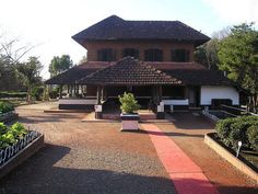
{"label": "pale low curb edging the right foreground garden bed of shrubs", "polygon": [[247,152],[244,153],[245,158],[242,155],[239,155],[239,157],[236,158],[235,157],[236,152],[232,148],[228,148],[227,146],[225,146],[220,140],[216,133],[207,134],[204,137],[204,142],[211,149],[213,149],[218,155],[220,155],[222,158],[227,160],[230,163],[232,163],[235,168],[241,170],[243,173],[245,173],[249,178],[256,180],[258,183],[258,168],[247,160],[248,158],[246,157]]}

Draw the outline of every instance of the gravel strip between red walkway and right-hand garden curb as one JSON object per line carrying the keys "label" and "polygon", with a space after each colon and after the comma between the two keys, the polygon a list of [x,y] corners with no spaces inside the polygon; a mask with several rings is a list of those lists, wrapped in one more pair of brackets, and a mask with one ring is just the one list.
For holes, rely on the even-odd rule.
{"label": "gravel strip between red walkway and right-hand garden curb", "polygon": [[220,158],[203,141],[214,125],[191,113],[174,113],[173,123],[156,123],[204,172],[221,194],[257,194],[258,185],[227,161]]}

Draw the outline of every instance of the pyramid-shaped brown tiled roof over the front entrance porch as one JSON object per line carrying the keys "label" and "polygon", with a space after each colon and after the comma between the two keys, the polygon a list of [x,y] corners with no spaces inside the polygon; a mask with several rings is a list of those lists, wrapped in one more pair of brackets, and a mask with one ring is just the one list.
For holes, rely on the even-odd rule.
{"label": "pyramid-shaped brown tiled roof over the front entrance porch", "polygon": [[86,76],[79,83],[103,85],[180,84],[181,81],[154,69],[132,57]]}

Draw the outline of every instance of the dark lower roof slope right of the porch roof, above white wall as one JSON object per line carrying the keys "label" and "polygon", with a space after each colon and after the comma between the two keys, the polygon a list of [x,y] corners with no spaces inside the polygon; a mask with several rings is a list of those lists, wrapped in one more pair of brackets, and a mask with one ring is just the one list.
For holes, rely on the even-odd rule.
{"label": "dark lower roof slope right of the porch roof, above white wall", "polygon": [[164,70],[187,85],[234,85],[222,72],[209,69],[174,69]]}

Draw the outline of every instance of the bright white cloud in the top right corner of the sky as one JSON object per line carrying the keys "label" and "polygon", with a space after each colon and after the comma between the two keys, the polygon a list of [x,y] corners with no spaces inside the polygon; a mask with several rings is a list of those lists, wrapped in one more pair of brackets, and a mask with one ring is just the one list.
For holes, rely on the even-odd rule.
{"label": "bright white cloud in the top right corner of the sky", "polygon": [[257,0],[202,0],[224,22],[238,24],[255,22],[258,25]]}

